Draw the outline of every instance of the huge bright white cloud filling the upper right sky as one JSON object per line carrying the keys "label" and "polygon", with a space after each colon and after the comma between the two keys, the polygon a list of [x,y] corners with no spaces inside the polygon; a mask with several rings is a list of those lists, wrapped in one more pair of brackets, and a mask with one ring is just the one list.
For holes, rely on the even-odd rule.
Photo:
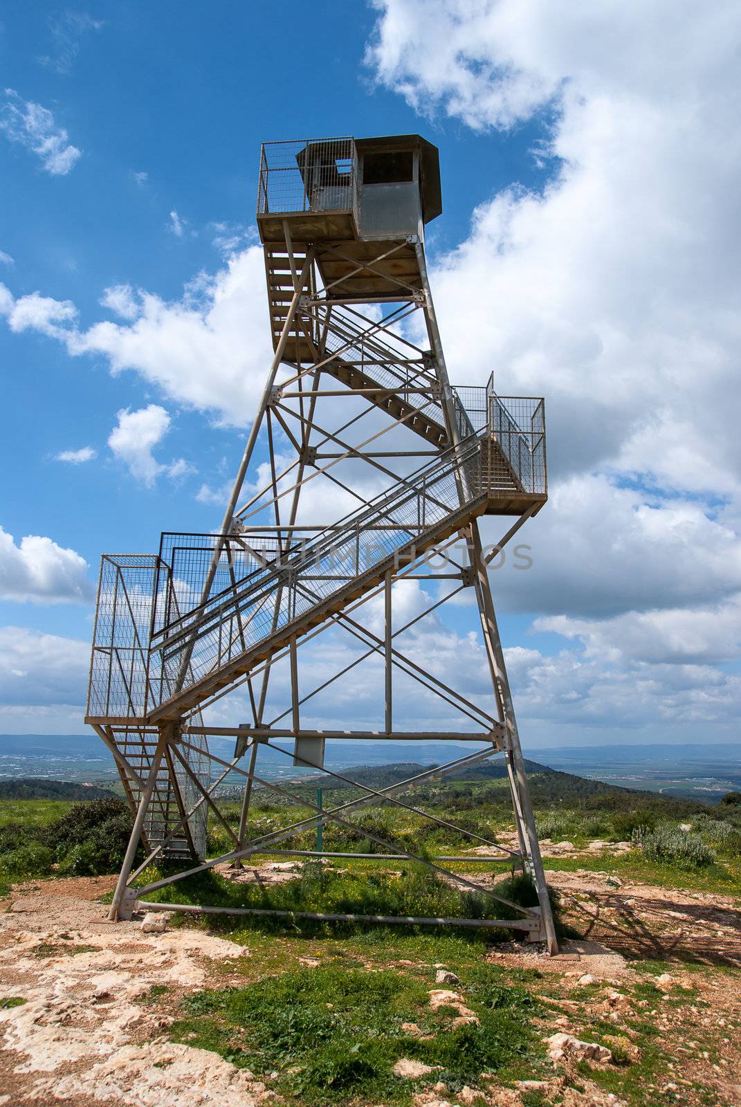
{"label": "huge bright white cloud filling the upper right sky", "polygon": [[486,200],[434,267],[453,377],[545,394],[554,476],[738,492],[734,6],[702,34],[667,0],[377,7],[368,60],[418,110],[480,131],[552,112],[547,187]]}

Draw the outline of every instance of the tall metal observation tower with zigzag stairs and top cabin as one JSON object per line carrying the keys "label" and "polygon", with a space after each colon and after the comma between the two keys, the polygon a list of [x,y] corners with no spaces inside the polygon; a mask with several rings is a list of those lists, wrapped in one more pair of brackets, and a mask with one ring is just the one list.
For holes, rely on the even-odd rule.
{"label": "tall metal observation tower with zigzag stairs and top cabin", "polygon": [[[503,920],[383,921],[504,925],[556,949],[487,577],[546,501],[544,405],[500,395],[493,377],[451,385],[424,254],[441,210],[438,149],[419,135],[263,146],[257,226],[275,352],[220,528],[163,534],[157,554],[102,559],[86,722],[115,757],[135,815],[112,918],[164,907],[147,897],[217,865],[228,877],[265,853],[363,856],[291,849],[297,834],[339,825],[370,840],[377,859],[415,861],[490,897],[498,913],[507,907]],[[497,547],[482,546],[484,515],[503,517]],[[411,614],[400,602],[410,594],[423,604]],[[457,604],[459,624],[477,610],[475,701],[428,655],[446,603]],[[415,730],[399,727],[402,711]],[[341,728],[321,726],[338,714]],[[358,761],[363,739],[413,741],[425,761],[426,743],[451,743],[456,756],[391,787],[325,768],[354,784],[350,799],[279,831],[250,827],[254,784],[294,796],[290,772],[276,778],[266,759],[323,768],[338,738],[359,741]],[[473,752],[460,756],[460,742]],[[416,786],[497,754],[517,848],[414,806]],[[219,806],[227,777],[244,785],[238,827]],[[466,856],[476,872],[494,859],[521,866],[539,906],[518,907],[491,880],[452,872],[456,858],[415,857],[353,821],[379,804],[490,847]],[[208,817],[230,839],[219,857],[206,856]],[[146,857],[134,868],[140,841]],[[185,863],[143,882],[158,859]]]}

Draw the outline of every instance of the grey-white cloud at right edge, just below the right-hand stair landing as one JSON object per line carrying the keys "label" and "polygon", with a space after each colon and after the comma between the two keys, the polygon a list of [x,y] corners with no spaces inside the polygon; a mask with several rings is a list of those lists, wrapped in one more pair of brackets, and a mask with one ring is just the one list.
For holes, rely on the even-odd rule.
{"label": "grey-white cloud at right edge, just below the right-hand stair landing", "polygon": [[[484,520],[494,544],[505,529]],[[527,544],[529,569],[515,568],[514,547]],[[599,617],[619,611],[711,603],[741,588],[738,529],[709,518],[701,503],[647,497],[604,475],[559,482],[538,516],[492,573],[506,610]],[[501,597],[501,599],[500,599]]]}

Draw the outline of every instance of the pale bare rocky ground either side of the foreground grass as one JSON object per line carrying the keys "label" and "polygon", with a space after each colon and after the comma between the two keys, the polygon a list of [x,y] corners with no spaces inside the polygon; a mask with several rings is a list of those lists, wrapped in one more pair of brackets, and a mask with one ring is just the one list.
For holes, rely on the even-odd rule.
{"label": "pale bare rocky ground either side of the foreground grass", "polygon": [[[288,876],[272,870],[271,877],[266,867],[263,879],[278,872],[281,879]],[[590,871],[552,872],[549,880],[585,939],[565,943],[556,958],[536,946],[500,943],[491,946],[487,960],[544,973],[544,995],[555,1004],[547,1027],[553,1076],[514,1089],[492,1085],[485,1099],[476,1099],[471,1089],[451,1093],[431,1083],[416,1095],[418,1107],[524,1107],[535,1101],[620,1107],[626,1100],[619,1095],[600,1089],[584,1073],[575,1077],[579,1062],[584,1067],[604,1061],[579,1043],[589,1042],[590,1017],[607,1018],[629,1059],[630,1051],[637,1052],[631,1027],[648,1016],[661,1032],[672,1078],[647,1086],[647,1104],[741,1105],[735,975],[741,921],[732,901],[622,886]],[[231,981],[244,985],[249,950],[203,929],[147,933],[141,921],[109,923],[99,897],[112,884],[113,878],[39,881],[14,889],[3,904],[0,1105],[253,1107],[277,1101],[269,1082],[215,1053],[168,1041],[178,997],[215,976],[218,986]],[[636,997],[632,958],[669,962],[668,971],[656,977],[660,993],[653,1007]],[[455,1017],[466,1018],[465,995],[454,981],[454,975],[440,977],[436,991],[447,995],[440,1002],[452,1004]],[[159,1002],[165,990],[166,1002]],[[435,994],[431,991],[431,1004]],[[12,1005],[13,999],[24,1002]],[[710,1048],[709,1036],[714,1043]]]}

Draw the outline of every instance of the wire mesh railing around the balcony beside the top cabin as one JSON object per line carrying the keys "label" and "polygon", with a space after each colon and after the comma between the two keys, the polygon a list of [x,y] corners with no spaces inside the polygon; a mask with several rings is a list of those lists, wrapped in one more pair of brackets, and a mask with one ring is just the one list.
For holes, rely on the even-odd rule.
{"label": "wire mesh railing around the balcony beside the top cabin", "polygon": [[352,211],[356,167],[356,144],[349,137],[264,143],[257,214]]}

